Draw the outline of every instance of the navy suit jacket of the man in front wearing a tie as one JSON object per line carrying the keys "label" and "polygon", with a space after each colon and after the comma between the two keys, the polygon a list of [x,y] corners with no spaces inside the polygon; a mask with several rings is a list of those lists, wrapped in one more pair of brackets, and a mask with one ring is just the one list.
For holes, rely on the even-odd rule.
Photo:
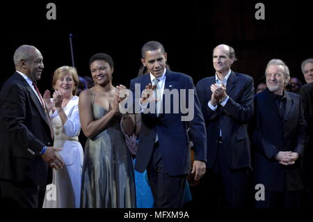
{"label": "navy suit jacket of the man in front wearing a tie", "polygon": [[[135,91],[135,84],[140,84],[137,93]],[[136,104],[139,104],[138,100],[140,99],[141,92],[143,92],[145,86],[148,84],[152,84],[150,74],[131,80],[129,88],[133,92]],[[189,133],[193,137],[195,160],[206,161],[207,145],[205,143],[206,131],[204,120],[198,95],[191,77],[186,74],[167,70],[164,90],[166,89],[194,90],[192,94],[194,100],[194,117],[191,121],[184,122],[181,118],[185,114],[180,109],[178,113],[173,112],[174,102],[178,102],[180,106],[181,97],[182,100],[186,101],[186,107],[188,107],[188,92],[186,95],[180,94],[179,100],[174,101],[173,97],[170,97],[170,113],[160,114],[159,117],[155,113],[142,113],[142,127],[136,155],[136,170],[143,172],[147,167],[154,147],[156,134],[158,134],[161,155],[167,173],[170,175],[184,175],[191,171],[190,150],[188,148],[189,138],[187,134],[188,127],[190,128]],[[163,107],[165,103],[164,96],[163,94]]]}

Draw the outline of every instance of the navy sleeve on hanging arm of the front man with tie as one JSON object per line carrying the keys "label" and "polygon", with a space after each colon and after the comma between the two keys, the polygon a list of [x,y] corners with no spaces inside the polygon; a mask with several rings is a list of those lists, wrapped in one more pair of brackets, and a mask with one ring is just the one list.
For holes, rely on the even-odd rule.
{"label": "navy sleeve on hanging arm of the front man with tie", "polygon": [[188,122],[188,127],[191,137],[193,138],[195,160],[207,161],[207,132],[197,90],[191,78],[188,82],[188,89],[193,89],[194,116],[193,119]]}

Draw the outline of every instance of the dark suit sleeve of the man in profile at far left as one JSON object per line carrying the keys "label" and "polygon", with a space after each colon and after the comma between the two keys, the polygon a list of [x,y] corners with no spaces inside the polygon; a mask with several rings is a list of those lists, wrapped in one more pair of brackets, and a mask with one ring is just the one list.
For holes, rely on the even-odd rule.
{"label": "dark suit sleeve of the man in profile at far left", "polygon": [[[40,142],[33,133],[26,127],[26,95],[25,90],[17,84],[4,86],[1,92],[0,111],[1,118],[15,144],[13,149],[35,151],[39,155],[44,143]],[[36,117],[34,117],[36,118]]]}

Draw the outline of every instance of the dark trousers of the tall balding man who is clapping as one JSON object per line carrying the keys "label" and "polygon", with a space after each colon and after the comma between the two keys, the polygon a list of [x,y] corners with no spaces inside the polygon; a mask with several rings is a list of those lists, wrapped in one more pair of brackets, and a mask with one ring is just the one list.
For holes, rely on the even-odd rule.
{"label": "dark trousers of the tall balding man who is clapping", "polygon": [[193,204],[210,208],[246,207],[248,173],[248,168],[233,170],[228,166],[227,150],[219,143],[214,168],[207,168],[200,184],[191,187]]}

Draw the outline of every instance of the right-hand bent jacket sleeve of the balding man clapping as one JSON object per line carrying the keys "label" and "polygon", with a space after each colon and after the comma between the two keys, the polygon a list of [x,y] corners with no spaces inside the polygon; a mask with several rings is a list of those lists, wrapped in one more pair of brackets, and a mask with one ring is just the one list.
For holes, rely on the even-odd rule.
{"label": "right-hand bent jacket sleeve of the balding man clapping", "polygon": [[224,106],[225,113],[242,124],[248,124],[253,116],[254,92],[253,79],[249,78],[244,85],[240,102],[236,102],[230,97]]}

